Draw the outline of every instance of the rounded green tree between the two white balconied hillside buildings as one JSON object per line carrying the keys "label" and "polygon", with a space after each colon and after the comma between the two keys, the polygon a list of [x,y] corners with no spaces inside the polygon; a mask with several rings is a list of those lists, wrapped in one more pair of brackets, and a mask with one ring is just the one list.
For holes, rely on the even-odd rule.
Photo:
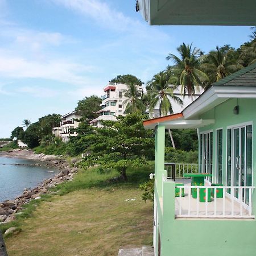
{"label": "rounded green tree between the two white balconied hillside buildings", "polygon": [[92,121],[96,118],[97,111],[101,109],[101,98],[96,95],[85,97],[77,103],[76,112],[81,115],[82,119]]}

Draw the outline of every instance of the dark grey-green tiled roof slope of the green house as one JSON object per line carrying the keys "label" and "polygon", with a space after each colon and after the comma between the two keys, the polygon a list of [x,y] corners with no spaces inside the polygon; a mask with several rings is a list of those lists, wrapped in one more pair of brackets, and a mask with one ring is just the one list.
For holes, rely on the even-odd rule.
{"label": "dark grey-green tiled roof slope of the green house", "polygon": [[256,86],[256,62],[212,85]]}

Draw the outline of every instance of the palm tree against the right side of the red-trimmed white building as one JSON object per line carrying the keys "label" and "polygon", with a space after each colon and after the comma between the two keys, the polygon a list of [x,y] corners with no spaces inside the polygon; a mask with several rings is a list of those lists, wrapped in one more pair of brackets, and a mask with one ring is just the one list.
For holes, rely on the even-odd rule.
{"label": "palm tree against the right side of the red-trimmed white building", "polygon": [[145,110],[141,97],[141,92],[138,90],[138,85],[135,85],[133,82],[130,82],[127,85],[127,89],[124,90],[124,95],[127,97],[125,101],[123,101],[123,105],[126,105],[125,114],[134,113]]}

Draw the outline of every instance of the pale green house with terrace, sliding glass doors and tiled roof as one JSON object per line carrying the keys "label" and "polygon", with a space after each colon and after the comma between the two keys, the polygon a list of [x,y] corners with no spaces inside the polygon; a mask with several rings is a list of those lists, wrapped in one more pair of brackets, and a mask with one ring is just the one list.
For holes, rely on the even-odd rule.
{"label": "pale green house with terrace, sliding glass doors and tiled roof", "polygon": [[[212,84],[183,112],[143,124],[156,139],[155,255],[256,255],[256,63]],[[188,128],[198,131],[198,168],[171,163],[170,179],[165,130]],[[203,183],[186,179],[195,172]]]}

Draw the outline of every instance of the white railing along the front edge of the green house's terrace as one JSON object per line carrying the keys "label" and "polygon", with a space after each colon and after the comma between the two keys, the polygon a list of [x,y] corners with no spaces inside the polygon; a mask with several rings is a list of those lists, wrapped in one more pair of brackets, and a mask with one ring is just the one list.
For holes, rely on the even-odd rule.
{"label": "white railing along the front edge of the green house's terrace", "polygon": [[[254,218],[254,189],[255,187],[176,185],[175,217]],[[192,197],[192,193],[196,198]]]}

